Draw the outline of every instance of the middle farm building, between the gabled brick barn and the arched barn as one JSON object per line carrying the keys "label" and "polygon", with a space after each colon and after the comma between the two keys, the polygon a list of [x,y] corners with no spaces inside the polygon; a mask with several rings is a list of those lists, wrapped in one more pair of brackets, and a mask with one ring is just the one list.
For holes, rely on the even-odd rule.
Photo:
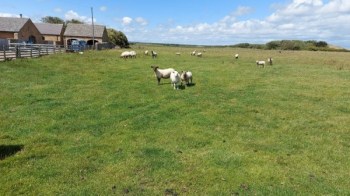
{"label": "middle farm building, between the gabled brick barn and the arched barn", "polygon": [[45,43],[63,45],[63,24],[35,23]]}

